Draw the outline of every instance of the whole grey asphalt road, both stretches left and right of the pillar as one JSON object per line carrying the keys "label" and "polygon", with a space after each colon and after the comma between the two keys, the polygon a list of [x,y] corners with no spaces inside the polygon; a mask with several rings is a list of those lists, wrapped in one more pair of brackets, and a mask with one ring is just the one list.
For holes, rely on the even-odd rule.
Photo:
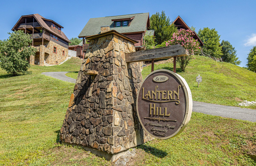
{"label": "whole grey asphalt road, both stretches left and right of the pillar", "polygon": [[[66,73],[68,72],[42,72],[42,74],[53,77],[55,79],[60,79],[63,81],[75,83],[76,79],[66,76],[65,75]],[[193,101],[193,111],[208,114],[208,115],[216,115],[220,117],[229,117],[234,119],[241,119],[241,120],[256,122],[255,109],[246,109],[246,108],[240,108],[240,107],[232,107],[232,106]]]}

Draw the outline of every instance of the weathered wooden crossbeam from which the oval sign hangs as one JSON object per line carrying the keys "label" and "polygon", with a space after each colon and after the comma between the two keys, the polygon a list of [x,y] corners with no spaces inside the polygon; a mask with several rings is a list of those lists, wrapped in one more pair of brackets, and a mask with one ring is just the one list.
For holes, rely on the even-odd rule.
{"label": "weathered wooden crossbeam from which the oval sign hangs", "polygon": [[166,59],[171,57],[185,57],[188,56],[188,51],[181,45],[172,45],[161,47],[157,49],[147,49],[132,53],[125,53],[125,62],[133,63],[140,61],[149,61],[151,59]]}

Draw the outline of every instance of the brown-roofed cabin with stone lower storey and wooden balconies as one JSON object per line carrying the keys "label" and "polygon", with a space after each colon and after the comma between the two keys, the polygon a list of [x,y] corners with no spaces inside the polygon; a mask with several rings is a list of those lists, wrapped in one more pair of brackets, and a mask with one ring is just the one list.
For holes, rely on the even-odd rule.
{"label": "brown-roofed cabin with stone lower storey and wooden balconies", "polygon": [[63,26],[39,14],[21,16],[12,31],[23,30],[31,34],[31,46],[36,47],[36,55],[30,56],[29,64],[40,66],[55,65],[68,57],[68,40],[62,32]]}

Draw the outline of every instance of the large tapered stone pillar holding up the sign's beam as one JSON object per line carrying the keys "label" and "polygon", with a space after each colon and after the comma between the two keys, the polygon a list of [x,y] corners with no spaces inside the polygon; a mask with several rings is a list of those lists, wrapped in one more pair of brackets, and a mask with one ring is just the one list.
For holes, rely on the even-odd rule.
{"label": "large tapered stone pillar holding up the sign's beam", "polygon": [[114,32],[87,38],[85,62],[60,130],[61,141],[81,145],[111,161],[153,139],[142,129],[136,113],[141,63],[125,62],[124,53],[135,52],[136,41]]}

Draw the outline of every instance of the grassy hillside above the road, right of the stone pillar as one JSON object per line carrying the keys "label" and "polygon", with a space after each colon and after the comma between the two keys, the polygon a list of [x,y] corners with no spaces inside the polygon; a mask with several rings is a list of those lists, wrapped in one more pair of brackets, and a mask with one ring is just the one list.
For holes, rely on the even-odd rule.
{"label": "grassy hillside above the road, right of the stone pillar", "polygon": [[[256,99],[256,73],[226,62],[216,62],[208,57],[195,56],[185,72],[177,64],[177,73],[188,82],[194,101],[238,106],[244,100]],[[168,62],[168,61],[167,61]],[[157,69],[173,71],[172,63],[156,62]],[[142,76],[151,72],[151,65],[144,67]],[[202,83],[197,87],[196,76],[202,76]],[[256,108],[249,106],[246,108]]]}

